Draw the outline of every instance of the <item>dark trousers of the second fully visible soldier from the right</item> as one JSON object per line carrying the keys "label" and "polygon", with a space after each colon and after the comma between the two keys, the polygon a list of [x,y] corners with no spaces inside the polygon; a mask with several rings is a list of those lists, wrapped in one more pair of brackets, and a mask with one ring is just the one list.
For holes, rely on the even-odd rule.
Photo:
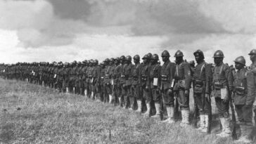
{"label": "dark trousers of the second fully visible soldier from the right", "polygon": [[215,103],[218,109],[220,118],[229,118],[229,102],[224,103],[224,100],[217,97],[215,98]]}

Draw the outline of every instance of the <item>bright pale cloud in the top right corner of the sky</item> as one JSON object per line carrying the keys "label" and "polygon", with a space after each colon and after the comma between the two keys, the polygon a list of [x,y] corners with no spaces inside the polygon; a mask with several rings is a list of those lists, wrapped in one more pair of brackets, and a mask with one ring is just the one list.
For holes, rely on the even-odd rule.
{"label": "bright pale cloud in the top right corner of the sky", "polygon": [[220,22],[229,32],[255,34],[255,7],[255,0],[207,0],[200,1],[198,9],[207,18]]}

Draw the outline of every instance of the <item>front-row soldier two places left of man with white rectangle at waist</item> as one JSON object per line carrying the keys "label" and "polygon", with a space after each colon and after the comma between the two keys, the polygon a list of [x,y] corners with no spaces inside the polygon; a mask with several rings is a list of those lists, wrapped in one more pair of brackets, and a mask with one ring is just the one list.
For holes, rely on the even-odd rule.
{"label": "front-row soldier two places left of man with white rectangle at waist", "polygon": [[[134,65],[132,67],[132,96],[138,105],[136,112],[142,112],[142,95],[141,95],[141,64],[139,55],[134,55]],[[134,107],[134,105],[132,105]]]}

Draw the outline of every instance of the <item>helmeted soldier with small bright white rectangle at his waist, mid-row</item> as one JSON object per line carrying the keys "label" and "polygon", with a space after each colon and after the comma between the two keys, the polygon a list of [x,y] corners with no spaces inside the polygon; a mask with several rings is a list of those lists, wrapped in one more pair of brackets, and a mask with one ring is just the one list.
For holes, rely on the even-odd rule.
{"label": "helmeted soldier with small bright white rectangle at his waist, mid-row", "polygon": [[160,118],[162,117],[162,110],[161,110],[161,66],[158,64],[159,57],[157,54],[153,54],[151,58],[151,67],[149,68],[148,72],[148,89],[150,95],[148,95],[148,101],[152,101],[155,105],[155,115],[152,117]]}

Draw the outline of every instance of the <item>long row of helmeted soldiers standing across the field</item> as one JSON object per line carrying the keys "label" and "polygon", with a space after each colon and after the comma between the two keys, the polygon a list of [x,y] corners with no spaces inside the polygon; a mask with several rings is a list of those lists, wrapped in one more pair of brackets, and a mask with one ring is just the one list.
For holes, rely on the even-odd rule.
{"label": "long row of helmeted soldiers standing across the field", "polygon": [[[169,52],[163,51],[162,66],[158,63],[157,54],[148,53],[143,56],[143,63],[140,63],[139,55],[134,55],[134,64],[130,55],[122,55],[120,58],[107,58],[100,64],[98,60],[84,60],[82,63],[1,65],[0,72],[4,79],[30,81],[63,93],[88,96],[141,113],[143,103],[146,103],[146,112],[143,112],[145,117],[159,117],[162,122],[169,124],[176,122],[179,108],[181,126],[190,123],[189,93],[193,88],[193,98],[200,117],[198,130],[210,132],[211,97],[214,97],[222,125],[222,132],[217,136],[233,134],[229,107],[235,105],[241,128],[239,140],[250,143],[252,110],[256,112],[256,49],[249,53],[252,60],[250,68],[245,68],[243,56],[234,60],[235,69],[223,63],[222,51],[215,52],[215,64],[205,62],[203,51],[198,50],[193,54],[196,67],[193,63],[186,63],[181,51],[174,54],[175,63],[169,60]],[[165,120],[164,111],[167,112]],[[254,120],[256,122],[256,117]]]}

